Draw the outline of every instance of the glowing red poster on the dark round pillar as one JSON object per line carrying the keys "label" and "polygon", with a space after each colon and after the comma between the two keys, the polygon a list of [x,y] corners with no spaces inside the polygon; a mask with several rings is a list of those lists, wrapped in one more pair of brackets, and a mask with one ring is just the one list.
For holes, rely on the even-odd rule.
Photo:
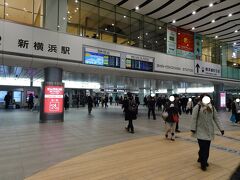
{"label": "glowing red poster on the dark round pillar", "polygon": [[45,86],[44,113],[63,112],[63,86]]}

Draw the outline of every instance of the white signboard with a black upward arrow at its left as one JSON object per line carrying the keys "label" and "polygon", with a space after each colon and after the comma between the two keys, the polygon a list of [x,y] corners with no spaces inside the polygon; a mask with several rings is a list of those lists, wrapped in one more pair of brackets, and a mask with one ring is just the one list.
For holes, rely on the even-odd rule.
{"label": "white signboard with a black upward arrow at its left", "polygon": [[195,74],[221,77],[221,65],[208,62],[195,61]]}

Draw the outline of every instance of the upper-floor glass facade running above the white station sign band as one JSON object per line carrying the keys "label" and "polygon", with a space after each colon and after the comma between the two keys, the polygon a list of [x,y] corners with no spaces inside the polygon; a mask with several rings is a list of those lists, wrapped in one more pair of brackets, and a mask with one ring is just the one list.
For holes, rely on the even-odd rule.
{"label": "upper-floor glass facade running above the white station sign band", "polygon": [[[0,0],[0,18],[105,42],[167,52],[166,23],[101,0]],[[185,34],[185,37],[190,35]],[[240,79],[240,53],[236,45],[220,43],[206,36],[202,36],[200,41],[200,50],[199,47],[192,50],[192,40],[186,44],[183,41],[181,47],[186,45],[188,49],[180,51],[182,57],[220,64],[222,77]]]}

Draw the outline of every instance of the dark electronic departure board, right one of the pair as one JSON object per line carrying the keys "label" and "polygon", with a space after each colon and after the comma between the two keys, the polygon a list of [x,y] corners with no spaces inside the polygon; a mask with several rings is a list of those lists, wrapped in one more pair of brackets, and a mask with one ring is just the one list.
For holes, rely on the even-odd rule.
{"label": "dark electronic departure board, right one of the pair", "polygon": [[140,71],[153,71],[153,62],[126,58],[126,68]]}

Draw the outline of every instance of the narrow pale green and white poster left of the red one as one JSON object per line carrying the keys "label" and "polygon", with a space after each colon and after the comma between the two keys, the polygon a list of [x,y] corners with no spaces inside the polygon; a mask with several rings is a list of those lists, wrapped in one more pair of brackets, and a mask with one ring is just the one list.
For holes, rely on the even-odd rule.
{"label": "narrow pale green and white poster left of the red one", "polygon": [[177,49],[177,28],[168,26],[167,28],[167,54],[176,56]]}

